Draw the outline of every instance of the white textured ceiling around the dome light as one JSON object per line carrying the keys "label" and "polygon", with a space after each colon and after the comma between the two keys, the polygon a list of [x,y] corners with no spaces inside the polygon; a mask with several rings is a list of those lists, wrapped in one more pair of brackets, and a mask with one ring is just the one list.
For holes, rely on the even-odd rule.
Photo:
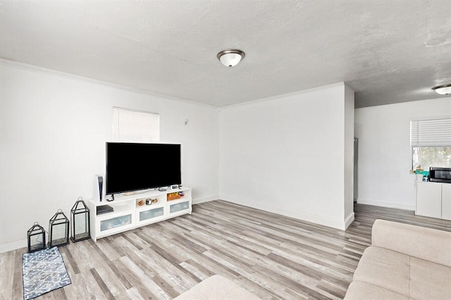
{"label": "white textured ceiling around the dome light", "polygon": [[[450,13],[450,0],[0,0],[0,58],[212,106],[344,81],[364,107],[439,96]],[[228,48],[246,52],[230,69]]]}

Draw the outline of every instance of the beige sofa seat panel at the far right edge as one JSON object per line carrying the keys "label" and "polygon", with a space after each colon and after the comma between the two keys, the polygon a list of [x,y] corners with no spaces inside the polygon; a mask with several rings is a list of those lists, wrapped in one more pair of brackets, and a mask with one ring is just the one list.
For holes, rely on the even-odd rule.
{"label": "beige sofa seat panel at the far right edge", "polygon": [[413,299],[450,299],[451,268],[411,257],[409,296]]}

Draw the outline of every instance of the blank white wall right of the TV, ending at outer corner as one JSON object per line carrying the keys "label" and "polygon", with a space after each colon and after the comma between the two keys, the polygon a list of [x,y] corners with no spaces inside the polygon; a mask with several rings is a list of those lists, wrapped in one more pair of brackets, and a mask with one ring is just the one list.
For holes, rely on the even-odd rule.
{"label": "blank white wall right of the TV, ending at outer corner", "polygon": [[219,130],[221,199],[346,227],[344,84],[223,108]]}

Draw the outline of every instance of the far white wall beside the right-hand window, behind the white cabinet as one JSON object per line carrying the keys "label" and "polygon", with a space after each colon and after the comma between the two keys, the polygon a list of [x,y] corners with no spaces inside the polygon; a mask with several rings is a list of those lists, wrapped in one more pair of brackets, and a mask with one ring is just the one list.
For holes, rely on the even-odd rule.
{"label": "far white wall beside the right-hand window, behind the white cabinet", "polygon": [[450,116],[451,98],[357,108],[358,203],[414,210],[410,120]]}

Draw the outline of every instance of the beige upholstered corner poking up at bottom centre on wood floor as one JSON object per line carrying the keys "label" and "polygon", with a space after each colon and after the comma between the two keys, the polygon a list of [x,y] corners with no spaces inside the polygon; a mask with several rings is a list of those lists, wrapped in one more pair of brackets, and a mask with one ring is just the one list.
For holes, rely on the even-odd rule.
{"label": "beige upholstered corner poking up at bottom centre on wood floor", "polygon": [[206,280],[194,285],[174,300],[208,300],[208,299],[249,299],[259,300],[260,298],[243,289],[235,282],[220,275],[214,275]]}

